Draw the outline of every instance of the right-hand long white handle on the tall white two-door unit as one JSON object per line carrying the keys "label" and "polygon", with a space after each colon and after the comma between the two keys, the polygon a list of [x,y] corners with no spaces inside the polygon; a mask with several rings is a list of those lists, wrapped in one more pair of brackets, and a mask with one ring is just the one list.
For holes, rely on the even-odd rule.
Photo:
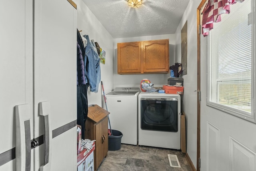
{"label": "right-hand long white handle on the tall white two-door unit", "polygon": [[50,126],[50,102],[42,101],[39,103],[39,115],[44,117],[44,165],[40,166],[40,171],[51,170],[51,140],[52,129]]}

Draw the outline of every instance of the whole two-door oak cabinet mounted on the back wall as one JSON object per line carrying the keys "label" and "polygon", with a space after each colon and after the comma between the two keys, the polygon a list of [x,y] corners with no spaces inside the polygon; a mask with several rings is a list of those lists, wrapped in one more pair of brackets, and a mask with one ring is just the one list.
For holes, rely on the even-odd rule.
{"label": "whole two-door oak cabinet mounted on the back wall", "polygon": [[118,43],[118,74],[169,72],[169,40]]}

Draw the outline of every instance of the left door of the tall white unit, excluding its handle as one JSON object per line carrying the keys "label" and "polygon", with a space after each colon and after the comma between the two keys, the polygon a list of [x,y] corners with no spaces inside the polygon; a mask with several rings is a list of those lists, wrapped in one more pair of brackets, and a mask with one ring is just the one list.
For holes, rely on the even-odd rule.
{"label": "left door of the tall white unit, excluding its handle", "polygon": [[[15,171],[14,107],[28,104],[30,137],[33,125],[33,3],[5,0],[0,5],[0,171]],[[24,122],[23,122],[24,123]],[[24,126],[24,124],[22,125]],[[23,132],[24,133],[24,132]],[[18,142],[17,142],[18,143]],[[32,156],[29,156],[32,159]],[[28,161],[30,162],[30,161]],[[24,163],[21,163],[24,166]],[[30,165],[33,168],[33,165]]]}

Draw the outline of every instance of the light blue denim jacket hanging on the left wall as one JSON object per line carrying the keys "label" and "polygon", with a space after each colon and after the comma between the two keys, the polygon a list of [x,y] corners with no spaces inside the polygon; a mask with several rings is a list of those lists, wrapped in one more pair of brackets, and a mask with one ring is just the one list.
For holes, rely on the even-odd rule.
{"label": "light blue denim jacket hanging on the left wall", "polygon": [[92,45],[89,36],[84,35],[84,37],[87,40],[84,57],[86,83],[89,83],[90,91],[97,93],[101,80],[100,57],[96,48]]}

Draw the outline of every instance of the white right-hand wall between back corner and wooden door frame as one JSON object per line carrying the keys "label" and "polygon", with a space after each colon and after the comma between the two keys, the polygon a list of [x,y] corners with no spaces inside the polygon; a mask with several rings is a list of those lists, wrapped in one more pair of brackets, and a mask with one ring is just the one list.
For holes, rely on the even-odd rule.
{"label": "white right-hand wall between back corner and wooden door frame", "polygon": [[184,95],[182,109],[186,114],[187,153],[196,167],[197,150],[197,15],[201,0],[190,0],[186,11],[176,30],[175,61],[181,62],[181,30],[188,21],[188,74],[184,79]]}

